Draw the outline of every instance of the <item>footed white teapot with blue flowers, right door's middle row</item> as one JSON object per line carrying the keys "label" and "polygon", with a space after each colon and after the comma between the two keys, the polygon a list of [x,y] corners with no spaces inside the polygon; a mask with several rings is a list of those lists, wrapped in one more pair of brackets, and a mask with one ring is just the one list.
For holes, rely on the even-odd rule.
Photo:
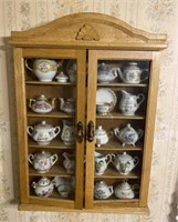
{"label": "footed white teapot with blue flowers, right door's middle row", "polygon": [[144,131],[142,129],[138,129],[138,131],[134,130],[134,128],[130,127],[128,123],[123,130],[119,130],[119,128],[114,129],[114,134],[123,142],[123,147],[126,145],[134,145],[140,139],[144,134]]}

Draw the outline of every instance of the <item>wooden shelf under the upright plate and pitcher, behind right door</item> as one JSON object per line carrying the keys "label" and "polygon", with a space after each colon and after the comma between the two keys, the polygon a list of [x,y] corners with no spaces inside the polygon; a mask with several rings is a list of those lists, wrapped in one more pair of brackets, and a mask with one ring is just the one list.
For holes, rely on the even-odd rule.
{"label": "wooden shelf under the upright plate and pitcher, behind right door", "polygon": [[145,117],[144,117],[144,115],[140,115],[140,114],[135,114],[135,115],[124,115],[124,114],[121,114],[121,113],[118,113],[118,112],[109,112],[109,113],[106,114],[106,115],[100,115],[100,114],[96,114],[96,119],[144,120]]}

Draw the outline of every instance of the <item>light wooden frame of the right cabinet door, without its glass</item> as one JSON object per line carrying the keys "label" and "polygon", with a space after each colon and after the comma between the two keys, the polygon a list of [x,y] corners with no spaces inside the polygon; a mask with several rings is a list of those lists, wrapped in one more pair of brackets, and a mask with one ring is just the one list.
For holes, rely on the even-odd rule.
{"label": "light wooden frame of the right cabinet door, without its glass", "polygon": [[85,208],[147,208],[154,128],[157,105],[157,89],[159,81],[159,53],[153,51],[123,51],[123,50],[90,50],[88,51],[88,87],[87,87],[87,117],[86,122],[93,121],[96,125],[96,88],[97,88],[97,60],[139,60],[150,61],[149,85],[147,95],[146,124],[144,138],[144,153],[142,164],[142,180],[139,201],[130,204],[117,201],[94,201],[94,151],[95,143],[86,141],[86,181]]}

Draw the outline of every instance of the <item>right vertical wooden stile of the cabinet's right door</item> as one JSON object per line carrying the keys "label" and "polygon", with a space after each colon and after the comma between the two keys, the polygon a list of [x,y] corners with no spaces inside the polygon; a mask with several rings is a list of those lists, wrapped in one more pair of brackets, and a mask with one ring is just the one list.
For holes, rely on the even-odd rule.
{"label": "right vertical wooden stile of the cabinet's right door", "polygon": [[140,196],[139,196],[140,206],[146,206],[148,199],[158,82],[159,82],[159,52],[153,52],[153,62],[149,75],[149,89],[148,89],[147,115],[146,115],[147,121],[145,127],[145,141],[144,141],[145,147],[144,147],[143,170],[142,170],[144,173],[142,175]]}

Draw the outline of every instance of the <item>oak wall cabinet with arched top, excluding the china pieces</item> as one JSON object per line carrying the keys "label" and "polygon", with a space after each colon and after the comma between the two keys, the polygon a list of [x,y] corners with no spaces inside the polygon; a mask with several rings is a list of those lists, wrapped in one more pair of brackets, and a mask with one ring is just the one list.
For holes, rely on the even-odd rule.
{"label": "oak wall cabinet with arched top, excluding the china pieces", "polygon": [[[166,36],[135,29],[106,14],[76,13],[29,31],[12,32],[10,43],[14,47],[21,191],[19,210],[147,213],[159,81],[159,51],[167,47]],[[53,59],[61,62],[59,72],[63,71],[65,74],[69,74],[69,62],[74,61],[76,81],[62,83],[55,78],[51,82],[39,81],[24,65],[29,58]],[[147,80],[135,84],[124,83],[118,74],[112,82],[98,83],[97,68],[103,62],[109,68],[121,68],[122,71],[128,62],[137,62],[140,69],[148,70]],[[113,110],[105,115],[96,112],[96,97],[100,89],[104,92],[102,97],[100,95],[102,101],[107,98],[108,89],[115,94]],[[122,90],[145,95],[144,102],[134,115],[121,113]],[[50,113],[35,113],[29,108],[29,100],[41,94],[45,94],[48,99],[56,98],[55,108]],[[57,98],[75,99],[75,114],[63,112]],[[61,131],[63,120],[73,122],[75,143],[65,145],[60,133],[50,144],[39,145],[28,135],[27,128],[44,120],[54,127],[59,125]],[[135,147],[123,147],[114,134],[106,144],[100,148],[95,145],[94,135],[98,125],[107,132],[113,132],[115,128],[122,129],[128,123],[134,129],[144,131],[144,135]],[[30,153],[41,151],[49,151],[59,157],[57,162],[45,173],[36,172],[28,160]],[[64,152],[73,153],[75,157],[73,174],[69,174],[63,165]],[[95,175],[95,152],[103,155],[127,152],[132,157],[138,157],[139,163],[129,174],[121,174],[111,162],[104,174]],[[55,176],[74,178],[72,194],[62,198],[54,186],[51,196],[38,196],[31,184],[43,176],[50,180]],[[97,200],[94,196],[94,185],[98,181],[104,181],[114,189],[118,183],[127,181],[129,184],[138,184],[138,189],[133,199],[121,200],[113,193],[106,200]]]}

